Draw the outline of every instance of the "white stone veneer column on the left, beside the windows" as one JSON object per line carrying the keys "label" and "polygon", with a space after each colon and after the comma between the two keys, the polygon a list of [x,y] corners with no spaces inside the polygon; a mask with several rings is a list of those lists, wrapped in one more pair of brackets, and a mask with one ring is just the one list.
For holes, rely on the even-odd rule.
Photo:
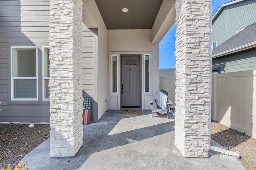
{"label": "white stone veneer column on the left, beside the windows", "polygon": [[50,0],[50,156],[83,143],[82,0]]}

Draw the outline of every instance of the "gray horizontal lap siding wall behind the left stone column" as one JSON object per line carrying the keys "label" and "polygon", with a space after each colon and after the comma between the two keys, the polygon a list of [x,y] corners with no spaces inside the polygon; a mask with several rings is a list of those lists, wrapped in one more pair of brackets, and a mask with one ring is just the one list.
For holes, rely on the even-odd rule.
{"label": "gray horizontal lap siding wall behind the left stone column", "polygon": [[[50,102],[42,100],[42,47],[49,46],[49,0],[0,1],[0,121],[50,120]],[[34,10],[36,9],[36,10]],[[94,43],[96,42],[96,43]],[[82,38],[83,96],[93,98],[92,117],[97,114],[94,64],[97,29],[84,29]],[[38,101],[11,101],[11,46],[38,47]],[[95,90],[96,89],[96,90]],[[96,116],[97,117],[97,116]]]}

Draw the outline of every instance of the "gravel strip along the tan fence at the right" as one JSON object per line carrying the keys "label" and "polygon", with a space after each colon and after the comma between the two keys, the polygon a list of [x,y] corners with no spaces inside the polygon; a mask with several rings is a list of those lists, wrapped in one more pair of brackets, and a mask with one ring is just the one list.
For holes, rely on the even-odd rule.
{"label": "gravel strip along the tan fence at the right", "polygon": [[211,138],[222,147],[238,152],[238,160],[247,170],[256,170],[256,139],[216,121],[211,124]]}

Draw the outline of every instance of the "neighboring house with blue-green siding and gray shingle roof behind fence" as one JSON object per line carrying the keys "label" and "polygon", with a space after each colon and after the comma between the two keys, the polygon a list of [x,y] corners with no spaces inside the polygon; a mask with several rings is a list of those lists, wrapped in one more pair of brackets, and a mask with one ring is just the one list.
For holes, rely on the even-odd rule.
{"label": "neighboring house with blue-green siding and gray shingle roof behind fence", "polygon": [[212,72],[256,69],[256,1],[222,4],[212,18]]}

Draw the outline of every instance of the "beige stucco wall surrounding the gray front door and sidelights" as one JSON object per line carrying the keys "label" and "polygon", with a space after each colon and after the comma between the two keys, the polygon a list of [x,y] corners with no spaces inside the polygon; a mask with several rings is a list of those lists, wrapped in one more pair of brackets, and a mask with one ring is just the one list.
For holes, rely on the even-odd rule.
{"label": "beige stucco wall surrounding the gray front door and sidelights", "polygon": [[[129,29],[129,30],[108,30],[108,52],[113,54],[142,54],[141,70],[144,69],[143,54],[151,54],[150,58],[150,75],[151,89],[150,93],[146,94],[142,90],[142,109],[150,109],[148,101],[155,98],[156,92],[159,90],[159,44],[151,43],[151,29]],[[108,68],[110,66],[108,64]],[[119,69],[120,72],[120,69]],[[118,75],[120,75],[118,73]],[[141,74],[143,85],[143,72]],[[111,80],[108,74],[108,89],[110,88]],[[119,77],[118,77],[119,78]],[[118,83],[120,87],[120,83]],[[143,89],[143,88],[142,88]],[[111,90],[111,89],[110,89]],[[120,90],[119,90],[120,92]],[[108,109],[120,109],[120,93],[116,96],[108,94]],[[119,107],[118,107],[119,106]]]}

